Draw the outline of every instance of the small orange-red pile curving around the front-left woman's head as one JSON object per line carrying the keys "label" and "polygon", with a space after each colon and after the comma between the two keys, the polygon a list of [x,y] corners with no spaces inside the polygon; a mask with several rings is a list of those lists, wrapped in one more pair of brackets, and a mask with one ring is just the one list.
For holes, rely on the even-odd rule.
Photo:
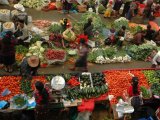
{"label": "small orange-red pile curving around the front-left woman's head", "polygon": [[32,82],[31,82],[31,88],[32,90],[35,90],[35,83],[37,81],[41,81],[43,84],[47,83],[47,79],[45,76],[34,76],[32,78]]}

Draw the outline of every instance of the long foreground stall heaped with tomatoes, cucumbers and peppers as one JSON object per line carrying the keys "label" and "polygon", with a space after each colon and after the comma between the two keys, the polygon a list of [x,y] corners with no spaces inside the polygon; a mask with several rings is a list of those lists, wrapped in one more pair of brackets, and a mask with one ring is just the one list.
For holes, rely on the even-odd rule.
{"label": "long foreground stall heaped with tomatoes, cucumbers and peppers", "polygon": [[[62,103],[60,108],[65,107],[78,107],[79,112],[83,111],[93,111],[94,104],[96,101],[109,100],[111,107],[110,109],[114,111],[114,117],[117,118],[117,110],[115,105],[118,103],[119,99],[124,99],[124,93],[129,87],[132,75],[139,78],[139,83],[141,86],[141,92],[143,99],[145,101],[152,101],[153,99],[160,99],[159,95],[159,70],[110,70],[102,73],[82,73],[82,74],[61,74],[61,75],[43,75],[35,76],[31,81],[27,81],[20,76],[2,76],[0,78],[1,83],[1,100],[14,103],[13,99],[17,98],[17,95],[30,96],[31,91],[33,91],[34,83],[36,81],[42,81],[47,83],[47,86],[52,86],[52,95],[55,101],[50,102],[50,109],[54,109],[56,104]],[[56,81],[57,77],[65,80],[66,85],[55,84],[53,80]],[[6,82],[4,82],[6,81]],[[7,84],[7,81],[10,84]],[[56,85],[56,86],[54,86]],[[63,88],[60,91],[59,87]],[[57,90],[56,90],[57,89]],[[148,90],[151,90],[152,95],[150,95]],[[55,92],[56,91],[56,92]],[[3,96],[4,95],[4,96]],[[30,103],[31,97],[22,97],[24,100],[28,100]],[[33,101],[32,101],[33,102]],[[25,105],[28,105],[26,102]],[[19,107],[9,107],[9,109],[1,110],[1,112],[11,112],[23,109],[27,109],[27,106]],[[147,104],[147,102],[146,102]],[[158,105],[158,104],[157,104]],[[28,108],[30,108],[28,106]],[[32,106],[34,109],[34,106]],[[12,112],[13,112],[12,111]]]}

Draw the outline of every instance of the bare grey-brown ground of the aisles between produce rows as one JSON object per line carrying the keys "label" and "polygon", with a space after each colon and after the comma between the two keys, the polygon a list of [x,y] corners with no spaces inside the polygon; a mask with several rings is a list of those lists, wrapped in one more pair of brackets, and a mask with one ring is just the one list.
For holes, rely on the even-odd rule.
{"label": "bare grey-brown ground of the aisles between produce rows", "polygon": [[[0,6],[1,9],[7,8],[12,10],[12,7],[8,6]],[[50,20],[50,21],[59,21],[62,18],[69,18],[71,21],[78,21],[79,18],[83,13],[70,13],[70,14],[63,14],[62,11],[37,11],[34,9],[26,9],[26,12],[28,15],[32,16],[33,20],[37,19],[44,19],[44,20]],[[106,23],[109,23],[112,19],[104,19],[102,15],[100,15],[102,20]],[[51,65],[47,68],[40,68],[39,73],[40,74],[53,74],[53,73],[69,73],[71,72],[68,70],[69,67],[73,65],[71,64],[62,64],[62,65]],[[129,68],[149,68],[151,66],[151,63],[149,62],[143,62],[143,61],[132,61],[131,63],[115,63],[115,64],[89,64],[89,72],[101,72],[104,70],[109,69],[129,69]],[[1,75],[6,75],[9,73],[4,72],[3,70],[0,70]],[[11,74],[18,74],[17,69],[15,72]]]}

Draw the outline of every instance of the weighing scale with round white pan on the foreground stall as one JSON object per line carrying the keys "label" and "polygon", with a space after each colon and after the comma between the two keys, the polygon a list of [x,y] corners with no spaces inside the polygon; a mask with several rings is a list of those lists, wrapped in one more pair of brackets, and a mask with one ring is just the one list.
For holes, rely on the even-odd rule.
{"label": "weighing scale with round white pan on the foreground stall", "polygon": [[62,102],[65,97],[63,95],[63,88],[65,87],[65,80],[62,76],[55,76],[51,80],[52,96],[56,102]]}

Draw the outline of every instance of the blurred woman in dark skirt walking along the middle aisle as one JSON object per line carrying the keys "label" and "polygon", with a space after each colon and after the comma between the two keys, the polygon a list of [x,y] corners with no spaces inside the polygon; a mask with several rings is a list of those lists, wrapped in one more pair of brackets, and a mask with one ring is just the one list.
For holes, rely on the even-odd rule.
{"label": "blurred woman in dark skirt walking along the middle aisle", "polygon": [[84,39],[80,40],[79,58],[76,60],[75,66],[70,70],[75,70],[77,67],[83,68],[84,72],[87,72],[87,57],[88,57],[88,45]]}

